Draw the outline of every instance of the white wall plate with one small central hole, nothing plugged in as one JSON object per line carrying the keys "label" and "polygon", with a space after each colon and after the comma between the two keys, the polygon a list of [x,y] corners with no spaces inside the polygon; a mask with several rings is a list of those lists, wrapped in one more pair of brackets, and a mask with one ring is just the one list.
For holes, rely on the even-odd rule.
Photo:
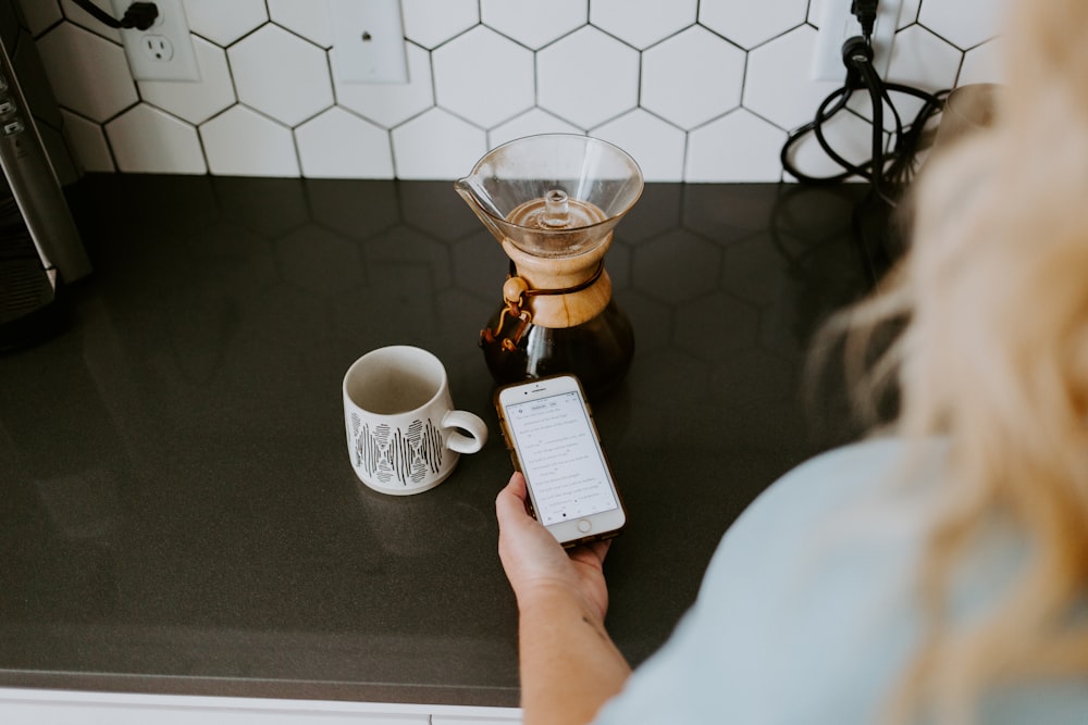
{"label": "white wall plate with one small central hole, nothing plugged in", "polygon": [[342,83],[408,83],[400,0],[329,0]]}

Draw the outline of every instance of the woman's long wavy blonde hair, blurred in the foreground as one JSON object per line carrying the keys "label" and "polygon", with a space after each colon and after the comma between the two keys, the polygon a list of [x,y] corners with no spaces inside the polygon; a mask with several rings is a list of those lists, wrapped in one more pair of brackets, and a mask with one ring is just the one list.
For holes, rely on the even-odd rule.
{"label": "woman's long wavy blonde hair, blurred in the foreground", "polygon": [[[876,377],[897,430],[950,441],[919,574],[928,634],[892,708],[970,720],[988,688],[1088,674],[1088,3],[1012,2],[989,129],[935,154],[912,190],[912,246],[851,311],[863,337],[907,322]],[[956,566],[1000,512],[1029,558],[982,618],[952,626]]]}

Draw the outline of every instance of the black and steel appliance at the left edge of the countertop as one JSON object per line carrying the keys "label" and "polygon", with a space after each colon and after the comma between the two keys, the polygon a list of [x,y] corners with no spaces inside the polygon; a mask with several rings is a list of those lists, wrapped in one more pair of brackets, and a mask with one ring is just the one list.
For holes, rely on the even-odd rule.
{"label": "black and steel appliance at the left edge of the countertop", "polygon": [[0,351],[38,341],[60,320],[65,283],[90,273],[57,174],[0,40]]}

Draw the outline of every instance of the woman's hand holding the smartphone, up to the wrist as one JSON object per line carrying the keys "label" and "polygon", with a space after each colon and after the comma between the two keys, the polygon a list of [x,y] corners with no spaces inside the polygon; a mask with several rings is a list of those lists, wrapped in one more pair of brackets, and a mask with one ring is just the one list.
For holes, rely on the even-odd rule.
{"label": "woman's hand holding the smartphone, up to the wrist", "polygon": [[608,587],[603,564],[611,540],[565,550],[551,532],[529,515],[528,496],[526,479],[516,472],[495,499],[498,555],[519,607],[527,607],[537,595],[562,589],[604,622]]}

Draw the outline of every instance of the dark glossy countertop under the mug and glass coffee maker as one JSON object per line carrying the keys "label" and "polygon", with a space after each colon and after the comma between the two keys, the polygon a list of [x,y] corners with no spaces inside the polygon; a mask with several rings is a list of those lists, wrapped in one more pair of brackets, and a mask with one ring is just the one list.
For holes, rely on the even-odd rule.
{"label": "dark glossy countertop under the mug and glass coffee maker", "polygon": [[[804,347],[864,288],[861,187],[648,185],[606,258],[636,351],[595,404],[630,510],[607,562],[632,663],[721,534],[850,437]],[[493,502],[510,460],[477,347],[507,259],[448,183],[89,176],[71,325],[0,357],[0,686],[515,705]],[[491,440],[385,497],[339,385],[424,347]]]}

